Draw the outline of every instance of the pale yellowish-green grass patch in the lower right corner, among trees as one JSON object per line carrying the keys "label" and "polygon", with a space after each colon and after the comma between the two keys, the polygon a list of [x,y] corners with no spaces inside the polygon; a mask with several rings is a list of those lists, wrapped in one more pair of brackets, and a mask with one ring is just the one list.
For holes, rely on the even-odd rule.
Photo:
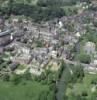
{"label": "pale yellowish-green grass patch in the lower right corner, among trees", "polygon": [[[82,83],[76,83],[73,85],[73,88],[67,88],[66,94],[67,96],[70,95],[70,93],[75,93],[76,95],[81,95],[82,92],[86,91],[88,93],[87,98],[90,98],[92,96],[92,88],[94,85],[91,84],[91,81],[96,79],[97,80],[97,74],[85,74],[85,77],[83,79]],[[97,91],[97,89],[95,90]]]}

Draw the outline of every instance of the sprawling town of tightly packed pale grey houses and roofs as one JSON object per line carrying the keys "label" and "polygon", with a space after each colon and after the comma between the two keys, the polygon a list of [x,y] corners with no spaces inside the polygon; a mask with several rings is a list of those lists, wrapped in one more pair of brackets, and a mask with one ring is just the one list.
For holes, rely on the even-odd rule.
{"label": "sprawling town of tightly packed pale grey houses and roofs", "polygon": [[[10,60],[9,68],[17,74],[23,74],[29,69],[30,73],[40,75],[50,66],[51,70],[57,71],[60,59],[73,60],[72,49],[87,33],[86,28],[93,27],[89,19],[95,21],[97,12],[79,12],[78,15],[41,24],[14,15],[10,20],[0,17],[0,53],[9,55],[5,59]],[[96,44],[91,41],[87,41],[83,49],[87,54],[97,52]],[[18,64],[23,65],[23,68],[17,68]],[[90,64],[96,66],[97,60],[93,58]]]}

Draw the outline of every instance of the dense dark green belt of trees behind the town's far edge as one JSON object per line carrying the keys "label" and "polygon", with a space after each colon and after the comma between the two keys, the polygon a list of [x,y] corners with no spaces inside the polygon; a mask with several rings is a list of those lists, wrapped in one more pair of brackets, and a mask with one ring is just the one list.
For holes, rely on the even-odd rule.
{"label": "dense dark green belt of trees behind the town's far edge", "polygon": [[55,17],[62,17],[65,15],[65,11],[59,6],[41,7],[37,5],[28,5],[24,3],[16,3],[13,0],[9,0],[8,6],[0,7],[2,15],[11,14],[24,15],[31,17],[34,21],[46,21]]}

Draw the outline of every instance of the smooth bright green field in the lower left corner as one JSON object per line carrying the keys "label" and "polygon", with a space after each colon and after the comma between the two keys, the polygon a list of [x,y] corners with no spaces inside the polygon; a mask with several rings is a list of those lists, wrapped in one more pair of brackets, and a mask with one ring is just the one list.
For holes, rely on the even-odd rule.
{"label": "smooth bright green field in the lower left corner", "polygon": [[48,91],[48,86],[37,82],[12,85],[0,81],[0,100],[36,100],[42,91]]}

